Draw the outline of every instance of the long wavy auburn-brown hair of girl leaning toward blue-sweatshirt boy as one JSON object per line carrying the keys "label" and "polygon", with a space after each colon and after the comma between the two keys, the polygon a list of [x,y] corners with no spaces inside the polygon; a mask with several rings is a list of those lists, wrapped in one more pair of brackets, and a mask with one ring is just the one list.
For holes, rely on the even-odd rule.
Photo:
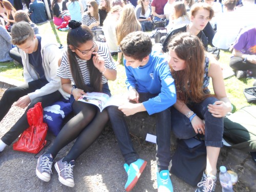
{"label": "long wavy auburn-brown hair of girl leaning toward blue-sweatshirt boy", "polygon": [[185,103],[201,102],[207,95],[203,92],[204,79],[204,46],[201,40],[190,33],[178,33],[168,44],[169,50],[185,61],[184,70],[170,70],[175,79],[177,98]]}

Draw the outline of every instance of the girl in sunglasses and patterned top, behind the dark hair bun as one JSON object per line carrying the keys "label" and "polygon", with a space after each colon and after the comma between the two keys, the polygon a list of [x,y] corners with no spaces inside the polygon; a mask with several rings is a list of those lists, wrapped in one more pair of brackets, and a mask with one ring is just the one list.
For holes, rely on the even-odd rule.
{"label": "girl in sunglasses and patterned top, behind the dark hair bun", "polygon": [[100,24],[98,4],[96,1],[92,0],[87,3],[88,11],[82,16],[82,24],[89,27],[91,30],[97,29]]}

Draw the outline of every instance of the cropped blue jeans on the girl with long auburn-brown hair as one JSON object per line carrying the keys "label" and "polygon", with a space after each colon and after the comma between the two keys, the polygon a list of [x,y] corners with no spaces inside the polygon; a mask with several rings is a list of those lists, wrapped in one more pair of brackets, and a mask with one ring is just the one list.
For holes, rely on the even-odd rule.
{"label": "cropped blue jeans on the girl with long auburn-brown hair", "polygon": [[[194,111],[198,117],[205,121],[205,145],[222,147],[223,136],[223,118],[217,118],[208,112],[207,105],[213,104],[218,99],[215,97],[208,97],[201,103],[189,103],[188,108]],[[172,112],[172,131],[179,139],[189,139],[195,137],[197,134],[193,129],[193,126],[189,122],[189,119],[178,112],[174,107],[171,108]]]}

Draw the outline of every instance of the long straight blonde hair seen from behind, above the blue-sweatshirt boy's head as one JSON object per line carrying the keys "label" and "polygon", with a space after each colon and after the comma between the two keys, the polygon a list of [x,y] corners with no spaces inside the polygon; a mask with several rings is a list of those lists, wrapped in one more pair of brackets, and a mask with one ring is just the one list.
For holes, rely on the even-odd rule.
{"label": "long straight blonde hair seen from behind, above the blue-sweatshirt boy's head", "polygon": [[141,31],[141,25],[136,18],[133,6],[125,5],[116,26],[117,45],[120,45],[127,34],[134,31]]}

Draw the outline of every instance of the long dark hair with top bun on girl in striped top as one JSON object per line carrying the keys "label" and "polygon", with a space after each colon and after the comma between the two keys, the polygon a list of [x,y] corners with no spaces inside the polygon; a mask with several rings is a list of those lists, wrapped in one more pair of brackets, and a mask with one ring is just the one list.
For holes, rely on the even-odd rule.
{"label": "long dark hair with top bun on girl in striped top", "polygon": [[86,44],[88,41],[93,41],[93,34],[91,30],[87,26],[81,25],[80,22],[76,22],[75,20],[70,21],[69,27],[72,29],[69,30],[67,35],[68,58],[72,76],[77,88],[82,89],[84,92],[102,92],[102,75],[93,64],[93,55],[91,59],[87,60],[91,85],[91,87],[89,87],[83,81],[82,73],[76,59],[77,55],[75,52],[72,52],[69,47],[69,45],[71,45],[74,48],[78,48],[82,44]]}

